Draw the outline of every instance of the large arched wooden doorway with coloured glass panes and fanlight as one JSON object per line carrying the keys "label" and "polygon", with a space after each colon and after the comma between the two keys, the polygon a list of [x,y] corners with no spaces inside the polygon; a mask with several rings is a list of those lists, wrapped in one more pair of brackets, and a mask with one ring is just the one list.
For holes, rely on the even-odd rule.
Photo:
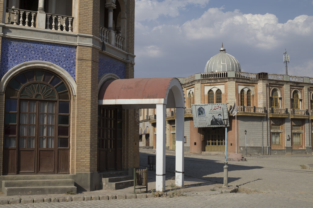
{"label": "large arched wooden doorway with coloured glass panes and fanlight", "polygon": [[58,75],[23,71],[5,89],[3,174],[69,173],[70,92]]}

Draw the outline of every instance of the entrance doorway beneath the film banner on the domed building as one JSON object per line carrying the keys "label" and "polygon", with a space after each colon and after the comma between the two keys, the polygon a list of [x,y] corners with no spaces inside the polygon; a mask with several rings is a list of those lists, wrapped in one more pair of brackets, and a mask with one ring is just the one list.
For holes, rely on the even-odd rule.
{"label": "entrance doorway beneath the film banner on the domed building", "polygon": [[225,151],[225,131],[224,128],[212,130],[206,128],[205,133],[205,151]]}

